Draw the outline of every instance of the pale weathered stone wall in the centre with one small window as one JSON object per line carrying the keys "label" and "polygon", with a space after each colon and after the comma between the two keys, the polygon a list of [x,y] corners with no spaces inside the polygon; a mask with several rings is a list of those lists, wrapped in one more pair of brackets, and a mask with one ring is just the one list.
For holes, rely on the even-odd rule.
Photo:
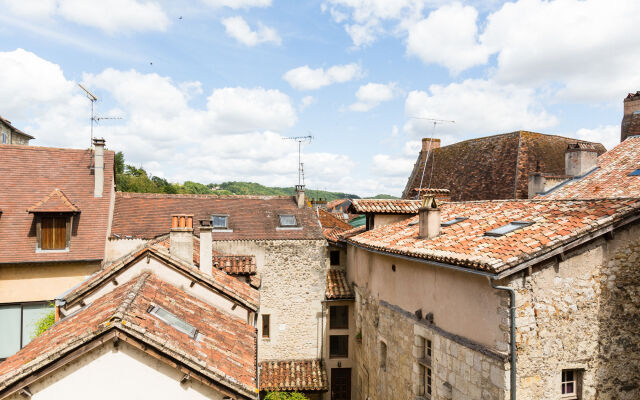
{"label": "pale weathered stone wall in the centre with one small window", "polygon": [[262,278],[260,314],[271,316],[268,339],[262,338],[258,318],[259,360],[321,357],[326,246],[324,240],[214,240],[216,251],[256,257]]}

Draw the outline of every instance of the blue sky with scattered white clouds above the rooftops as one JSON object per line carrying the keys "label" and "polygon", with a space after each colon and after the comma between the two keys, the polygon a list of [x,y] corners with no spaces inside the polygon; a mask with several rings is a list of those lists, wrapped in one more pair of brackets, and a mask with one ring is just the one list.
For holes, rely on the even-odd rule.
{"label": "blue sky with scattered white clouds above the rooftops", "polygon": [[[637,0],[0,0],[0,115],[173,182],[399,196],[423,137],[615,146]],[[433,125],[428,118],[450,120]],[[464,162],[464,160],[461,160]]]}

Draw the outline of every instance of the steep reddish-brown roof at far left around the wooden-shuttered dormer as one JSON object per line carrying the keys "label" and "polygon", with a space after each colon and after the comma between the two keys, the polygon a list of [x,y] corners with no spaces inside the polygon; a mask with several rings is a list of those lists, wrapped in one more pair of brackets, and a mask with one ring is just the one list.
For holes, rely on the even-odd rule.
{"label": "steep reddish-brown roof at far left around the wooden-shuttered dormer", "polygon": [[[0,145],[0,264],[102,260],[113,188],[113,151],[104,152],[103,196],[93,197],[91,151]],[[34,215],[27,212],[54,189],[82,213],[74,218],[68,252],[35,252]]]}

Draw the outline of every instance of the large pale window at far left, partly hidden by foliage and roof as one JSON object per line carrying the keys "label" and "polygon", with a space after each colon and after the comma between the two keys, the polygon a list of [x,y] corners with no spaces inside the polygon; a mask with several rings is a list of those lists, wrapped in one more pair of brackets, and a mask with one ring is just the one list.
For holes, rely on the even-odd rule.
{"label": "large pale window at far left, partly hidden by foliage and roof", "polygon": [[51,311],[49,302],[0,304],[0,360],[26,346],[36,323]]}

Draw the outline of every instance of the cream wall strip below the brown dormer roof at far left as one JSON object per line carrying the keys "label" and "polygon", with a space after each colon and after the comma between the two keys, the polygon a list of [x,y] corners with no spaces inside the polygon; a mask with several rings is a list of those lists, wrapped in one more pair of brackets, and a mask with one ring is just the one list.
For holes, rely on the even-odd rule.
{"label": "cream wall strip below the brown dormer roof at far left", "polygon": [[100,263],[0,265],[0,303],[53,300],[100,269]]}

